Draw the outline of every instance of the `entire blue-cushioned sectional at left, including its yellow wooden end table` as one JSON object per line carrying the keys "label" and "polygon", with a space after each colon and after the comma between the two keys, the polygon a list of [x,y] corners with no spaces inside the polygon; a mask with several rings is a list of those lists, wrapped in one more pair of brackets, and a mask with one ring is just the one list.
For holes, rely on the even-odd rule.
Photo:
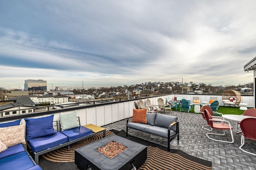
{"label": "entire blue-cushioned sectional at left, including its yellow wooden end table", "polygon": [[[28,150],[25,149],[22,143],[10,146],[2,152],[0,150],[0,170],[42,170],[37,165],[40,155],[64,146],[68,146],[69,149],[70,144],[100,133],[94,133],[92,129],[80,126],[80,119],[76,117],[76,113],[60,115],[61,131],[58,130],[58,121],[53,121],[53,118],[54,115],[35,119],[24,118],[26,131],[24,128],[24,141],[22,143],[27,144]],[[16,127],[19,125],[20,120],[1,123],[0,131],[4,127]]]}

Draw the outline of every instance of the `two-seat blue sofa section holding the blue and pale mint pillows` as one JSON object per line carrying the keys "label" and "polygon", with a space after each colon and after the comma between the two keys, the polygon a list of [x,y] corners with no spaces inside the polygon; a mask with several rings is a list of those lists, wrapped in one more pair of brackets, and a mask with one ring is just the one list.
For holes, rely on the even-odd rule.
{"label": "two-seat blue sofa section holding the blue and pale mint pillows", "polygon": [[[70,117],[70,115],[72,116]],[[68,146],[69,150],[70,144],[96,134],[92,132],[92,129],[80,126],[80,120],[79,117],[76,117],[76,114],[70,113],[61,116],[68,117],[66,118],[68,124],[63,126],[61,123],[62,119],[60,118],[60,125],[62,129],[64,128],[62,131],[58,131],[58,122],[53,121],[54,115],[36,119],[24,119],[26,121],[26,141],[28,148],[34,155],[36,164],[38,164],[38,156],[64,146]],[[43,123],[40,124],[40,122]],[[79,125],[77,122],[79,122]],[[56,130],[53,124],[56,126]],[[42,131],[42,129],[44,129],[44,131]]]}

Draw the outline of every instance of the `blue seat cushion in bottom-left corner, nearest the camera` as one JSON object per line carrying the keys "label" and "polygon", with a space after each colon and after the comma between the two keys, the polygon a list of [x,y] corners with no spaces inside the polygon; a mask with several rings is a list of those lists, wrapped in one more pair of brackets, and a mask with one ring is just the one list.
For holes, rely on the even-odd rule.
{"label": "blue seat cushion in bottom-left corner, nearest the camera", "polygon": [[0,159],[0,170],[26,170],[33,166],[33,162],[25,151]]}

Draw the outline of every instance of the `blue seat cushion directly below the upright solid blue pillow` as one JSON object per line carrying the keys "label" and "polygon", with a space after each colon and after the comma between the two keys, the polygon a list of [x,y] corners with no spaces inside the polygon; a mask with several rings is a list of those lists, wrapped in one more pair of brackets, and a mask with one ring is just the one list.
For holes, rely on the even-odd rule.
{"label": "blue seat cushion directly below the upright solid blue pillow", "polygon": [[60,132],[55,132],[52,135],[30,139],[28,144],[34,152],[40,152],[66,142],[68,142],[68,137],[66,137],[66,135]]}

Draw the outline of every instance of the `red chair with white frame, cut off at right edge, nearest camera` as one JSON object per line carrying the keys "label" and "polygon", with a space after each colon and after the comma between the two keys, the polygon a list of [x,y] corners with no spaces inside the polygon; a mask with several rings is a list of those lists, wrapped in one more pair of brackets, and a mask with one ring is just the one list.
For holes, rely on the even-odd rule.
{"label": "red chair with white frame, cut off at right edge, nearest camera", "polygon": [[[256,141],[256,117],[249,117],[249,118],[243,119],[240,122],[240,128],[242,130],[242,137],[241,137],[241,146],[239,147],[239,149],[248,154],[252,154],[252,155],[256,156],[256,154],[242,149],[242,147],[244,146],[244,143],[245,143],[244,138]],[[255,147],[254,147],[254,149],[255,149]]]}

